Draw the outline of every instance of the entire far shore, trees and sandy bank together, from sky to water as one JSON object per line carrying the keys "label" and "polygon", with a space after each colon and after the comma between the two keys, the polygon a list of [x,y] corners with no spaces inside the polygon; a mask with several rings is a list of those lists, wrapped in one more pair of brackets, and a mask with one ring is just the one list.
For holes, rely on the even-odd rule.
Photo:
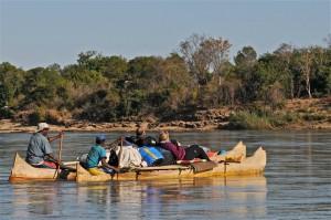
{"label": "entire far shore, trees and sandy bank together, from sky to water", "polygon": [[0,119],[66,127],[147,121],[152,127],[330,128],[331,35],[325,42],[281,44],[260,56],[244,46],[231,61],[228,40],[193,34],[167,57],[87,51],[63,67],[2,62]]}

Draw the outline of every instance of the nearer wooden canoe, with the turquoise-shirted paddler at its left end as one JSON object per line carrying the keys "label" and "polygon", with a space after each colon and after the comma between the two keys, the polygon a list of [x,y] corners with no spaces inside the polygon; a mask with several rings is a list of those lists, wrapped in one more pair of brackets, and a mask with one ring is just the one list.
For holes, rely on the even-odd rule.
{"label": "nearer wooden canoe, with the turquoise-shirted paddler at its left end", "polygon": [[[245,149],[243,144],[234,150]],[[237,146],[238,146],[237,145]],[[243,148],[244,147],[244,148]],[[253,156],[245,157],[241,163],[218,163],[211,170],[195,172],[190,166],[171,165],[162,167],[137,168],[129,172],[92,176],[86,169],[77,165],[77,182],[85,181],[109,181],[109,180],[152,180],[170,178],[192,178],[192,177],[217,177],[217,176],[247,176],[259,175],[264,171],[267,163],[266,151],[259,147]]]}

